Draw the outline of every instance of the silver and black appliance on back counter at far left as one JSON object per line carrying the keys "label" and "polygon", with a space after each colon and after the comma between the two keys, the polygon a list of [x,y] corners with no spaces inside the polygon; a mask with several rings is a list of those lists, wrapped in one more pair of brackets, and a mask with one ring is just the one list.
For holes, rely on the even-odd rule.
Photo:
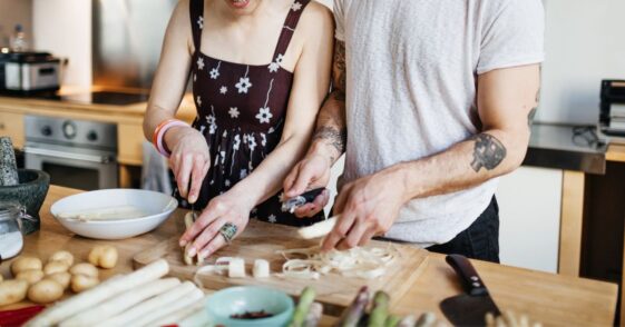
{"label": "silver and black appliance on back counter at far left", "polygon": [[60,87],[61,60],[48,52],[0,51],[0,91],[32,93]]}

